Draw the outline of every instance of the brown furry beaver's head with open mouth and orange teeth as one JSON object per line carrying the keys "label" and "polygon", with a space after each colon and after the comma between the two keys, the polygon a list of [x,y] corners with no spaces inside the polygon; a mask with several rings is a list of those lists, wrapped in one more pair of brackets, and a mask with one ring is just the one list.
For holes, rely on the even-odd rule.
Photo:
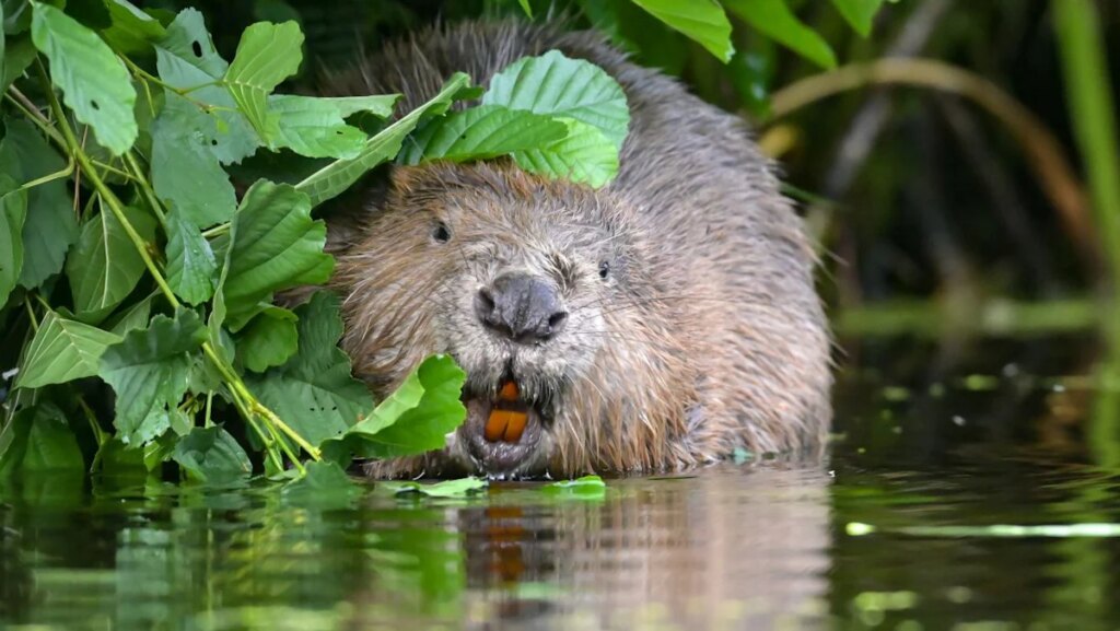
{"label": "brown furry beaver's head with open mouth and orange teeth", "polygon": [[[503,163],[396,167],[373,206],[333,236],[355,374],[384,396],[424,356],[450,354],[467,373],[467,420],[444,451],[371,473],[523,477],[666,461],[692,377],[636,208]],[[500,408],[524,426],[492,420]]]}

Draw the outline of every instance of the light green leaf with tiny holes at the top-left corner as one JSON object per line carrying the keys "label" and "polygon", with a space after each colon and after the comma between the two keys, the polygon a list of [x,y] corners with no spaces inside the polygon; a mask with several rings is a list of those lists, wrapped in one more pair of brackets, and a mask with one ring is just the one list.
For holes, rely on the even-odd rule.
{"label": "light green leaf with tiny holes at the top-left corner", "polygon": [[137,93],[124,64],[92,30],[62,10],[31,2],[31,40],[50,59],[50,81],[77,120],[114,156],[137,139]]}

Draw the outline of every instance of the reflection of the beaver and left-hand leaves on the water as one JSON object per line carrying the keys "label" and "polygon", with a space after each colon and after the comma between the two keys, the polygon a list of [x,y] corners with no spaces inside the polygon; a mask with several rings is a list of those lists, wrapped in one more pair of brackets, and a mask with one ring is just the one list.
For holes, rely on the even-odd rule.
{"label": "reflection of the beaver and left-hand leaves on the water", "polygon": [[[347,507],[161,489],[4,509],[0,620],[74,629],[754,629],[825,614],[828,474],[724,466]],[[30,505],[29,501],[36,505]]]}

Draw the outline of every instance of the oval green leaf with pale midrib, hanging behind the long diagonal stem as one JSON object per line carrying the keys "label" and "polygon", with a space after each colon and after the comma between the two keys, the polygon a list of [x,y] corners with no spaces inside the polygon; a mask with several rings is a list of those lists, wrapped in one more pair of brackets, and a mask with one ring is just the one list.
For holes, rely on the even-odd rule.
{"label": "oval green leaf with pale midrib, hanging behind the long diagonal stem", "polygon": [[[147,214],[125,207],[125,217],[146,240],[155,239],[156,222]],[[66,259],[66,277],[77,318],[96,324],[136,288],[144,275],[143,259],[124,226],[108,207],[82,226],[77,245]]]}

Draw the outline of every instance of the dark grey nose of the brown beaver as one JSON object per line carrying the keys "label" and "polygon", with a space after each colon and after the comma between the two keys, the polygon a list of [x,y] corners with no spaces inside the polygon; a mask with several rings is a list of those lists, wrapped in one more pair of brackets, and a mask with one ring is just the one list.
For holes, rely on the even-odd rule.
{"label": "dark grey nose of the brown beaver", "polygon": [[568,322],[560,291],[528,273],[505,273],[478,291],[475,313],[491,331],[521,344],[551,340]]}

